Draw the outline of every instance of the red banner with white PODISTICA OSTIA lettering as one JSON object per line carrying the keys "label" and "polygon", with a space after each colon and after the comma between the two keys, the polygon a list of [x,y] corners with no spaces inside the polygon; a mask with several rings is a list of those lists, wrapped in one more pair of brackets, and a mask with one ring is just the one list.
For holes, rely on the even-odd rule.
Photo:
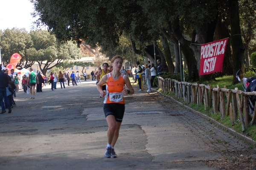
{"label": "red banner with white PODISTICA OSTIA lettering", "polygon": [[199,75],[222,72],[228,38],[201,45]]}

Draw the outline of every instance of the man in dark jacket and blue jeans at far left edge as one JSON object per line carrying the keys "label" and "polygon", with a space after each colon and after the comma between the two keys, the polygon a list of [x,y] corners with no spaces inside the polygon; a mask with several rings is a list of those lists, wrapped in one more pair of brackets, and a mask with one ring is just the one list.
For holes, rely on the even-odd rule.
{"label": "man in dark jacket and blue jeans at far left edge", "polygon": [[[1,64],[0,64],[0,68],[2,68]],[[2,71],[0,72],[0,80],[1,80],[0,81],[0,104],[2,107],[2,112],[0,114],[3,114],[6,112],[5,105],[3,103],[3,99],[6,102],[6,107],[8,107],[8,109],[9,109],[8,113],[12,112],[11,105],[9,103],[9,99],[7,98],[7,95],[6,95],[6,87],[8,87],[8,84],[9,84],[7,76],[8,75],[5,74],[4,72],[2,72]]]}

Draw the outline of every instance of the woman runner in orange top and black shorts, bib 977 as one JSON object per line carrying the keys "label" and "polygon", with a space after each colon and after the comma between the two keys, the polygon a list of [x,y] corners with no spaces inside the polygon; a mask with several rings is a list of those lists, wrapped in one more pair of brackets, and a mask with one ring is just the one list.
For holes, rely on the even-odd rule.
{"label": "woman runner in orange top and black shorts, bib 977", "polygon": [[[116,158],[114,146],[119,136],[119,130],[122,124],[122,118],[125,112],[124,95],[134,94],[129,78],[120,73],[123,59],[116,55],[111,60],[113,71],[107,75],[103,75],[97,85],[101,97],[105,96],[104,113],[108,122],[108,144],[105,151],[106,158]],[[102,86],[107,84],[106,90],[102,90]],[[125,89],[125,85],[128,89]]]}

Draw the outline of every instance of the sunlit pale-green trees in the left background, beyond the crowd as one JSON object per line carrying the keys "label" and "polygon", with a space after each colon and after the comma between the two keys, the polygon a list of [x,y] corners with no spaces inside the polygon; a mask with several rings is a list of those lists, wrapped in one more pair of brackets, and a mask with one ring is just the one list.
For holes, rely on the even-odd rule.
{"label": "sunlit pale-green trees in the left background, beyond the crowd", "polygon": [[25,29],[6,29],[0,34],[0,48],[3,65],[7,65],[12,54],[17,52],[22,57],[16,66],[18,69],[37,62],[44,75],[63,61],[81,58],[81,49],[76,43],[60,42],[47,30],[27,33]]}

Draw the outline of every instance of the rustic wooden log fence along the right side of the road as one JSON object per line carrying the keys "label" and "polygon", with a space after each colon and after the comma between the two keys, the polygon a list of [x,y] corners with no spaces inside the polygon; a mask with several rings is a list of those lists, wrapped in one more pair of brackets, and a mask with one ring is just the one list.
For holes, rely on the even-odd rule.
{"label": "rustic wooden log fence along the right side of the road", "polygon": [[[212,108],[212,112],[220,112],[221,118],[230,116],[232,126],[240,119],[242,131],[253,125],[256,120],[256,109],[250,121],[249,116],[249,96],[256,95],[256,92],[243,92],[236,89],[225,89],[204,84],[191,84],[179,82],[170,78],[157,77],[158,88],[165,94],[175,93],[175,97],[182,99],[187,104],[203,104],[204,108]],[[225,96],[226,99],[225,100]],[[256,108],[256,104],[254,105]],[[238,118],[239,117],[239,118]]]}

